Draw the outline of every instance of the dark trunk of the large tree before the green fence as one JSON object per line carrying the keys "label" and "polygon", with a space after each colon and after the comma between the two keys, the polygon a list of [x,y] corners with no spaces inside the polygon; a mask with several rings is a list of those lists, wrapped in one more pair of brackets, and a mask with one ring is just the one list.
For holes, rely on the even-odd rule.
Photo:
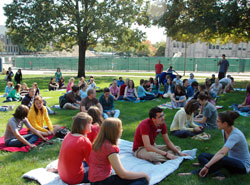
{"label": "dark trunk of the large tree before the green fence", "polygon": [[82,76],[85,78],[85,58],[86,58],[86,50],[87,50],[87,42],[80,40],[78,42],[79,46],[79,58],[78,58],[78,78]]}

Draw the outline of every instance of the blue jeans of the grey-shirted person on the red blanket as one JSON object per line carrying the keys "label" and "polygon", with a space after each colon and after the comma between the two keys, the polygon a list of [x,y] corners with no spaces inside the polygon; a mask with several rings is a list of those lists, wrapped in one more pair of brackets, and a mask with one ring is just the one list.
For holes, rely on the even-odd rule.
{"label": "blue jeans of the grey-shirted person on the red blanket", "polygon": [[[34,144],[38,140],[38,136],[35,134],[27,134],[23,136],[30,144]],[[21,141],[16,138],[8,139],[5,141],[5,145],[8,147],[22,147],[25,146]]]}

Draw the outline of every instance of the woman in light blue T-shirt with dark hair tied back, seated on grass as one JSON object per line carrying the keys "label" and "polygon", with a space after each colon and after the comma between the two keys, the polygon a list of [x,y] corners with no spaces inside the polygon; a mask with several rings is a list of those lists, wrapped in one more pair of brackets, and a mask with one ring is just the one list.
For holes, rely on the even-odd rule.
{"label": "woman in light blue T-shirt with dark hair tied back, seated on grass", "polygon": [[[224,146],[215,154],[201,153],[198,157],[202,168],[191,173],[179,173],[179,176],[199,174],[206,177],[214,174],[216,179],[222,180],[225,177],[219,172],[220,169],[227,169],[231,173],[246,174],[250,172],[250,153],[247,140],[244,134],[234,127],[234,120],[239,117],[235,111],[220,112],[217,119],[217,126],[222,130]],[[228,156],[226,154],[228,153]]]}

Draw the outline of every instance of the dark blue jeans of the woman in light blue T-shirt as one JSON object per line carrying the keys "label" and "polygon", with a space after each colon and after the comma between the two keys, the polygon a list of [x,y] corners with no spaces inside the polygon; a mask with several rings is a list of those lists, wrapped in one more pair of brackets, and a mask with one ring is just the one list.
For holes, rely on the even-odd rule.
{"label": "dark blue jeans of the woman in light blue T-shirt", "polygon": [[[213,156],[214,156],[213,154],[201,153],[198,157],[199,163],[201,164],[201,166],[205,166],[213,158]],[[227,169],[230,173],[238,173],[238,174],[246,173],[246,168],[240,160],[228,156],[224,156],[221,160],[212,165],[209,168],[208,173],[209,174],[219,173],[219,170],[222,168]]]}

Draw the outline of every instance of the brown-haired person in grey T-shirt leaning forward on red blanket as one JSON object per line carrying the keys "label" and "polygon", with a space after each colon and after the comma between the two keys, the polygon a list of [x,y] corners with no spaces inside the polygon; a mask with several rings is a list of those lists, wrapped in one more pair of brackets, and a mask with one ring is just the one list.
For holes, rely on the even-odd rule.
{"label": "brown-haired person in grey T-shirt leaning forward on red blanket", "polygon": [[[31,148],[35,148],[36,145],[34,145],[34,143],[38,140],[38,137],[42,138],[44,141],[48,140],[31,126],[27,119],[28,112],[29,108],[26,105],[19,105],[16,108],[13,117],[9,119],[6,126],[4,134],[6,146],[22,147],[27,145]],[[23,124],[25,124],[25,126],[34,134],[20,135],[19,131],[23,128]]]}

